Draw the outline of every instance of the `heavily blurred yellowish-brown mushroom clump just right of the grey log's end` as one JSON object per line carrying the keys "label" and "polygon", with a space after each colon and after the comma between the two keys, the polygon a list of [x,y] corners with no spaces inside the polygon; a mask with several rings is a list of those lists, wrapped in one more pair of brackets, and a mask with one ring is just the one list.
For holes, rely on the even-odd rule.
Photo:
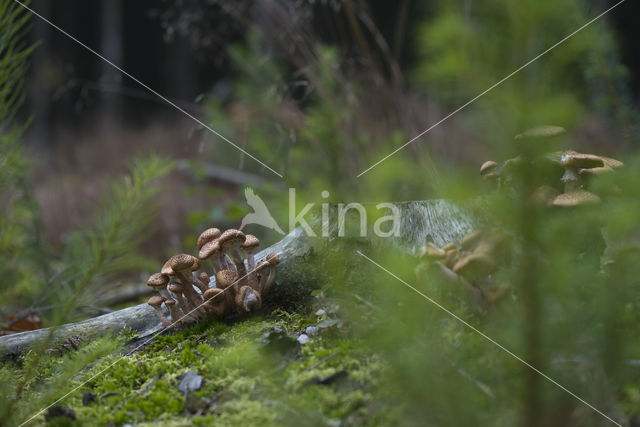
{"label": "heavily blurred yellowish-brown mushroom clump just right of the grey log's end", "polygon": [[436,272],[457,285],[479,305],[497,301],[509,288],[496,280],[500,268],[510,265],[509,237],[493,228],[467,234],[460,245],[447,243],[438,248],[427,243],[420,256],[418,275]]}

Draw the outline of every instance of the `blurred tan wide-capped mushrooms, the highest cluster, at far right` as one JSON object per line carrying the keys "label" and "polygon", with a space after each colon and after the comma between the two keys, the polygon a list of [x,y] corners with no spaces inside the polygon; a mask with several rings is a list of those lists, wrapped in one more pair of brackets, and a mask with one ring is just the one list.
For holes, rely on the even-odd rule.
{"label": "blurred tan wide-capped mushrooms, the highest cluster, at far right", "polygon": [[[538,126],[516,135],[515,140],[521,145],[530,144],[536,148],[526,151],[547,151],[550,141],[565,133],[559,126]],[[495,181],[498,189],[503,189],[513,183],[518,170],[531,165],[544,167],[545,170],[557,170],[557,175],[555,172],[552,175],[560,179],[558,182],[550,182],[550,185],[538,183],[539,186],[529,195],[529,203],[533,206],[566,208],[600,203],[600,197],[586,189],[589,179],[614,172],[623,163],[609,157],[563,150],[536,158],[521,154],[506,160],[502,165],[489,160],[480,167],[480,175],[484,180]]]}

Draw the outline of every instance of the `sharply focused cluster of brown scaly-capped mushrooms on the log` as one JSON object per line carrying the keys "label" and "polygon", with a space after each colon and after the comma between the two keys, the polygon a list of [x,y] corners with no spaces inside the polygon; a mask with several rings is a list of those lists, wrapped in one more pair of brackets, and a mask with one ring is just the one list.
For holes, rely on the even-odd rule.
{"label": "sharply focused cluster of brown scaly-capped mushrooms on the log", "polygon": [[[280,262],[276,254],[256,260],[258,238],[234,229],[221,232],[209,228],[200,234],[197,246],[197,257],[174,255],[159,273],[149,276],[147,285],[158,295],[148,302],[165,326],[208,317],[219,319],[261,307],[262,297],[275,279],[275,266]],[[201,270],[205,261],[213,268],[211,275]],[[171,320],[164,315],[162,304]]]}

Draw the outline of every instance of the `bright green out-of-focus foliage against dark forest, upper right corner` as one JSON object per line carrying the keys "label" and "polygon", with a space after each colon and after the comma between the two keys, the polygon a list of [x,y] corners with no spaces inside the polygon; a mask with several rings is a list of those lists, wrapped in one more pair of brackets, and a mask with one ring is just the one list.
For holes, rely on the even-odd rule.
{"label": "bright green out-of-focus foliage against dark forest, upper right corner", "polygon": [[[577,1],[438,4],[434,18],[418,32],[416,42],[423,60],[414,76],[430,97],[451,110],[601,13]],[[609,134],[624,138],[627,147],[635,146],[638,116],[625,95],[625,76],[604,18],[488,92],[460,120],[478,143],[501,154],[512,147],[499,141],[522,129],[544,123],[571,129],[603,118]]]}

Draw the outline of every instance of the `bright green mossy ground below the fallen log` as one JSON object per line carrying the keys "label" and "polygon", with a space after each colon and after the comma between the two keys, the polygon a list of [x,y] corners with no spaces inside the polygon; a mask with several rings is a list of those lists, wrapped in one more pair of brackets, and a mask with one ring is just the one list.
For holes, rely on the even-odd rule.
{"label": "bright green mossy ground below the fallen log", "polygon": [[[158,336],[129,356],[108,356],[77,375],[69,389],[88,382],[60,402],[76,421],[58,417],[48,424],[393,423],[394,413],[382,404],[384,364],[333,315],[304,311],[207,321]],[[295,340],[319,323],[307,344]],[[178,377],[188,371],[203,382],[185,394]],[[95,400],[88,403],[87,396]]]}

